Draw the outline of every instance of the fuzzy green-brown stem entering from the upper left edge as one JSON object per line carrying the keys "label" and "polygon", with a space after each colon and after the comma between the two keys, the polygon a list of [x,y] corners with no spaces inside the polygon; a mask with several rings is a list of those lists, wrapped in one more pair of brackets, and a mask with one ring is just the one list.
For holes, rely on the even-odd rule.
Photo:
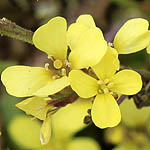
{"label": "fuzzy green-brown stem entering from the upper left edge", "polygon": [[17,40],[27,42],[29,44],[33,44],[32,31],[26,30],[6,18],[0,19],[0,35],[8,36]]}

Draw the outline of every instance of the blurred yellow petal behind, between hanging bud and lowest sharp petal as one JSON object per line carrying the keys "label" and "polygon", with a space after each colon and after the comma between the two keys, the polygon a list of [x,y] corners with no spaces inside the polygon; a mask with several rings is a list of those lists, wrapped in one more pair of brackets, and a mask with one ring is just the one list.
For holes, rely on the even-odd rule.
{"label": "blurred yellow petal behind, between hanging bud and lowest sharp petal", "polygon": [[52,116],[52,128],[55,137],[66,138],[86,127],[83,120],[87,115],[87,110],[91,107],[91,99],[79,98],[74,103],[61,108]]}

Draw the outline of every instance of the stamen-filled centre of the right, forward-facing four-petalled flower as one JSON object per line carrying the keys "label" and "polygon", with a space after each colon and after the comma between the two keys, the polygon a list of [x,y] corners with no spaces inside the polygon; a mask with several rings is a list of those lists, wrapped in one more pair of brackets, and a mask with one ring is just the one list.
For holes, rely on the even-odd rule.
{"label": "stamen-filled centre of the right, forward-facing four-petalled flower", "polygon": [[97,83],[99,84],[99,89],[98,89],[99,94],[102,94],[102,93],[113,94],[113,92],[111,91],[111,88],[114,86],[114,83],[110,82],[109,79],[98,80]]}

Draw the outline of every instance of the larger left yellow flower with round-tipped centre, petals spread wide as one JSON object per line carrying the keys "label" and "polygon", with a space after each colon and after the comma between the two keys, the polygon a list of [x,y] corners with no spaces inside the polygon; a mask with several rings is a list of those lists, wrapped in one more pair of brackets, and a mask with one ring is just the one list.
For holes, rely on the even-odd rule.
{"label": "larger left yellow flower with round-tipped centre, petals spread wide", "polygon": [[[17,97],[53,95],[69,86],[67,74],[70,69],[96,65],[107,50],[107,43],[99,28],[88,27],[82,23],[85,18],[86,21],[92,19],[90,15],[80,16],[77,20],[79,23],[75,23],[79,28],[69,29],[69,34],[72,32],[80,34],[75,42],[76,46],[71,49],[69,62],[67,61],[67,39],[72,41],[74,37],[67,36],[66,20],[62,17],[55,17],[39,27],[33,35],[33,43],[48,54],[53,61],[53,66],[50,69],[49,64],[46,64],[45,68],[8,67],[1,77],[7,92]],[[84,32],[81,31],[80,25],[86,28]]]}

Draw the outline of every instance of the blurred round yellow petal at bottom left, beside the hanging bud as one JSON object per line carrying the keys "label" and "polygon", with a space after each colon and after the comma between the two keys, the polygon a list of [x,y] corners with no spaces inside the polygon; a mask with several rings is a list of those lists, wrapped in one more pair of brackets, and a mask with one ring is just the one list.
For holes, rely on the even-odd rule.
{"label": "blurred round yellow petal at bottom left, beside the hanging bud", "polygon": [[38,149],[40,143],[40,127],[38,120],[31,120],[25,115],[17,115],[8,124],[7,131],[15,144],[24,149]]}

